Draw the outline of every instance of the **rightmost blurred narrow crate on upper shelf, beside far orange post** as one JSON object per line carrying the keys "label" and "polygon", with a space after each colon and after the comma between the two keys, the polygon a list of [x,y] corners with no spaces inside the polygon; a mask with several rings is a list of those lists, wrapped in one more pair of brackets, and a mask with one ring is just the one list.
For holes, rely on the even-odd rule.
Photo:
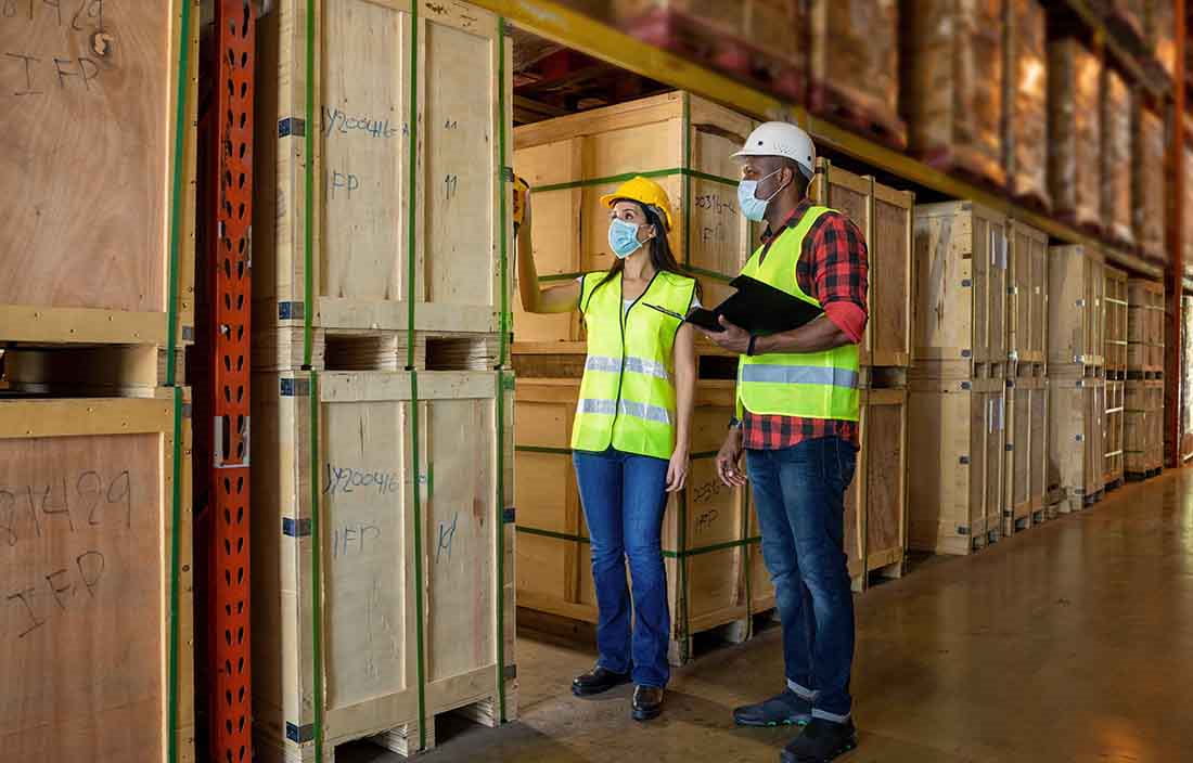
{"label": "rightmost blurred narrow crate on upper shelf, beside far orange post", "polygon": [[[1166,262],[1164,248],[1164,119],[1143,103],[1136,88],[1131,129],[1132,223],[1135,240],[1145,258]],[[1119,173],[1121,174],[1121,172]]]}

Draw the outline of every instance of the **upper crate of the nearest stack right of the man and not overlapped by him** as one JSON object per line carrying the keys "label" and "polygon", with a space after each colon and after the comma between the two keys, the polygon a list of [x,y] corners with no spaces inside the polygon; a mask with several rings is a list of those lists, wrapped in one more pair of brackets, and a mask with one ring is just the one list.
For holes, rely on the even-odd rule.
{"label": "upper crate of the nearest stack right of the man and not overlapped by him", "polygon": [[914,373],[999,376],[1007,362],[1006,218],[970,201],[915,207]]}

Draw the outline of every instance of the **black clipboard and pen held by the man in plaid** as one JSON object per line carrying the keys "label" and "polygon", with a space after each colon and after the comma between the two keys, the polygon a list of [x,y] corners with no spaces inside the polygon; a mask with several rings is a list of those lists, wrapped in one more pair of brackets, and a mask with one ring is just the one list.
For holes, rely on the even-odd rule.
{"label": "black clipboard and pen held by the man in plaid", "polygon": [[821,308],[749,275],[738,275],[729,285],[737,291],[719,305],[712,309],[692,308],[686,316],[650,303],[643,304],[713,333],[724,330],[719,321],[722,316],[750,334],[766,335],[797,329],[824,315]]}

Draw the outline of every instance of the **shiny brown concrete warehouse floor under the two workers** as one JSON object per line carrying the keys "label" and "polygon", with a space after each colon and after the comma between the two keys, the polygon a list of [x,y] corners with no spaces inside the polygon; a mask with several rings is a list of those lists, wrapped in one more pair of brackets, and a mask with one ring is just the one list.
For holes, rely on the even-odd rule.
{"label": "shiny brown concrete warehouse floor under the two workers", "polygon": [[[858,600],[857,751],[842,763],[1193,761],[1193,471],[973,557],[934,559]],[[665,715],[629,718],[629,689],[571,696],[591,647],[523,638],[520,720],[440,719],[427,763],[777,761],[784,730],[730,709],[783,683],[779,632],[679,669]],[[339,763],[398,761],[366,743]]]}

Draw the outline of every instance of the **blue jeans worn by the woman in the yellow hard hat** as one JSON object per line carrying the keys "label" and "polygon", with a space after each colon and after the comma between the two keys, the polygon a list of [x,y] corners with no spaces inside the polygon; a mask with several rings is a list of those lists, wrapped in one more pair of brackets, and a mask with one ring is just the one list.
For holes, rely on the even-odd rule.
{"label": "blue jeans worn by the woman in the yellow hard hat", "polygon": [[[667,461],[613,448],[604,453],[577,451],[571,460],[592,541],[596,664],[629,672],[639,686],[665,688],[670,678],[670,612],[662,552]],[[632,602],[625,585],[625,559],[633,581]]]}

